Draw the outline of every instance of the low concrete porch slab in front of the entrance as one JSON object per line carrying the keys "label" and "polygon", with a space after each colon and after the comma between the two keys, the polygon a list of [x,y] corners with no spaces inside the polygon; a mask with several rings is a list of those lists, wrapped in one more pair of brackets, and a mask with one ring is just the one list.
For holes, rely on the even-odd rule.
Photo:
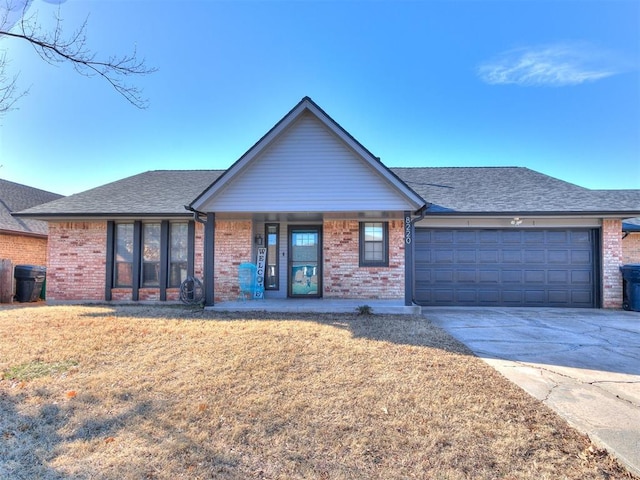
{"label": "low concrete porch slab in front of the entrance", "polygon": [[356,313],[363,305],[371,307],[374,314],[419,315],[419,305],[404,305],[402,300],[368,300],[368,299],[324,299],[324,298],[289,298],[234,300],[217,302],[206,306],[205,310],[214,312],[280,312],[280,313]]}

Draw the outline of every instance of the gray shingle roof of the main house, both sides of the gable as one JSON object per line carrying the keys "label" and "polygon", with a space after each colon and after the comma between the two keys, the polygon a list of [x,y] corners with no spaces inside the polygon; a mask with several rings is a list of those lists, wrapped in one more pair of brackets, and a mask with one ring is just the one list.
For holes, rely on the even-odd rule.
{"label": "gray shingle roof of the main house, both sides of the gable", "polygon": [[[391,168],[429,214],[640,214],[640,190],[590,190],[522,167]],[[30,208],[35,217],[185,215],[224,170],[157,170]]]}

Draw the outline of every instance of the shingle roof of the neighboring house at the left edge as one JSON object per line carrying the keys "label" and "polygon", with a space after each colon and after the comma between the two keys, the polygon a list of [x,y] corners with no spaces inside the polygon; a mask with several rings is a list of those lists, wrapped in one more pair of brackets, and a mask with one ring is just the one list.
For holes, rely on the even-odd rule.
{"label": "shingle roof of the neighboring house at the left edge", "polygon": [[61,198],[62,195],[0,179],[0,230],[46,235],[46,222],[13,217],[13,212]]}

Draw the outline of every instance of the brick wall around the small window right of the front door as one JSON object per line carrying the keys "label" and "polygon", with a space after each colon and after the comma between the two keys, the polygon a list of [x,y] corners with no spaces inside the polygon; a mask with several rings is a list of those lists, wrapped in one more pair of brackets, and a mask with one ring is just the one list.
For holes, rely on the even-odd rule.
{"label": "brick wall around the small window right of the front door", "polygon": [[325,221],[323,296],[325,298],[404,298],[404,229],[389,222],[389,266],[360,267],[357,220]]}

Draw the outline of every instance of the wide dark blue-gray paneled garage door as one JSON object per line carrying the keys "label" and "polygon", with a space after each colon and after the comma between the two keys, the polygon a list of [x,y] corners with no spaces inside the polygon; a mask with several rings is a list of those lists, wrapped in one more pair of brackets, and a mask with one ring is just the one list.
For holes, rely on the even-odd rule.
{"label": "wide dark blue-gray paneled garage door", "polygon": [[596,307],[596,232],[417,228],[415,301]]}

